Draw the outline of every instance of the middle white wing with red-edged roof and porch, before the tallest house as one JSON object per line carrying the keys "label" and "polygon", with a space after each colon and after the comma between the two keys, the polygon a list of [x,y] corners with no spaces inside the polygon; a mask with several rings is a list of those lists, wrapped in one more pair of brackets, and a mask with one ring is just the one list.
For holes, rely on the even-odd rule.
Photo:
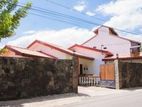
{"label": "middle white wing with red-edged roof and porch, before the tallest house", "polygon": [[69,49],[81,53],[83,55],[93,57],[95,59],[92,61],[79,59],[80,74],[95,74],[98,76],[100,71],[100,64],[104,63],[102,59],[105,57],[112,56],[111,52],[90,48],[82,45],[77,45],[77,44],[73,45]]}

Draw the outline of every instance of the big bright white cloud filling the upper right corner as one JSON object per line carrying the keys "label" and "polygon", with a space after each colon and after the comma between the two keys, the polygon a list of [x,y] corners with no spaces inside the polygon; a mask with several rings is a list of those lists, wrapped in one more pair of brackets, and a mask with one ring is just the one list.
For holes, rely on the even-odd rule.
{"label": "big bright white cloud filling the upper right corner", "polygon": [[111,16],[105,25],[125,30],[142,26],[142,0],[114,0],[100,5],[97,11]]}

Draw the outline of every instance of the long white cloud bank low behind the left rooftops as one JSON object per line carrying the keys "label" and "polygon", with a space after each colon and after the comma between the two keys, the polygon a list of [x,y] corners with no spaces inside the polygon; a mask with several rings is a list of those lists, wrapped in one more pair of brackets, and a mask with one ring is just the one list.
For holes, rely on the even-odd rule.
{"label": "long white cloud bank low behind the left rooftops", "polygon": [[13,41],[9,41],[8,44],[27,47],[31,42],[38,39],[63,47],[69,47],[76,43],[83,43],[93,35],[93,32],[89,31],[88,29],[73,27],[61,30],[37,31],[34,34],[24,35],[17,39],[14,39]]}

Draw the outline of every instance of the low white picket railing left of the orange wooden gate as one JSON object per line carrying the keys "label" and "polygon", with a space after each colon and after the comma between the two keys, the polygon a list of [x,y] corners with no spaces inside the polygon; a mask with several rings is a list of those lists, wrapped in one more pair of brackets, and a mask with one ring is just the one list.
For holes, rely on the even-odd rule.
{"label": "low white picket railing left of the orange wooden gate", "polygon": [[98,84],[97,78],[94,75],[80,75],[78,83],[80,86],[96,86]]}

